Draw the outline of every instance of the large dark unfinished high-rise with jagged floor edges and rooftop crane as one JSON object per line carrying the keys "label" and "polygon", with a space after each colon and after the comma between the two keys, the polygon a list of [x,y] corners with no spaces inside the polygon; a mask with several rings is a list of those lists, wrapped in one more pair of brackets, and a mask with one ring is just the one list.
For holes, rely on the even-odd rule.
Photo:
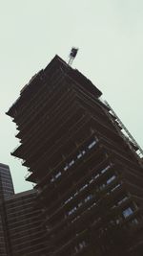
{"label": "large dark unfinished high-rise with jagged floor edges and rooftop crane", "polygon": [[[100,202],[135,230],[130,255],[141,255],[143,167],[101,91],[56,56],[21,90],[8,115],[21,145],[12,155],[28,167],[47,228],[47,255],[104,255]],[[128,134],[127,134],[128,135]],[[104,197],[102,196],[104,195]],[[104,214],[104,213],[103,213]],[[108,244],[107,244],[108,245]],[[107,248],[108,249],[108,248]]]}

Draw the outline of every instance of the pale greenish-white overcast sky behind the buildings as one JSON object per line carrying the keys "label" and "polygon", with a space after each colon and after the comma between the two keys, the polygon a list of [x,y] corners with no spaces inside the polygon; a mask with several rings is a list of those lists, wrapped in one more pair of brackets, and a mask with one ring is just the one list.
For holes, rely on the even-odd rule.
{"label": "pale greenish-white overcast sky behind the buildings", "polygon": [[58,54],[103,91],[143,147],[143,1],[0,0],[0,162],[10,165],[16,192],[31,188],[10,156],[17,132],[5,115],[20,89]]}

